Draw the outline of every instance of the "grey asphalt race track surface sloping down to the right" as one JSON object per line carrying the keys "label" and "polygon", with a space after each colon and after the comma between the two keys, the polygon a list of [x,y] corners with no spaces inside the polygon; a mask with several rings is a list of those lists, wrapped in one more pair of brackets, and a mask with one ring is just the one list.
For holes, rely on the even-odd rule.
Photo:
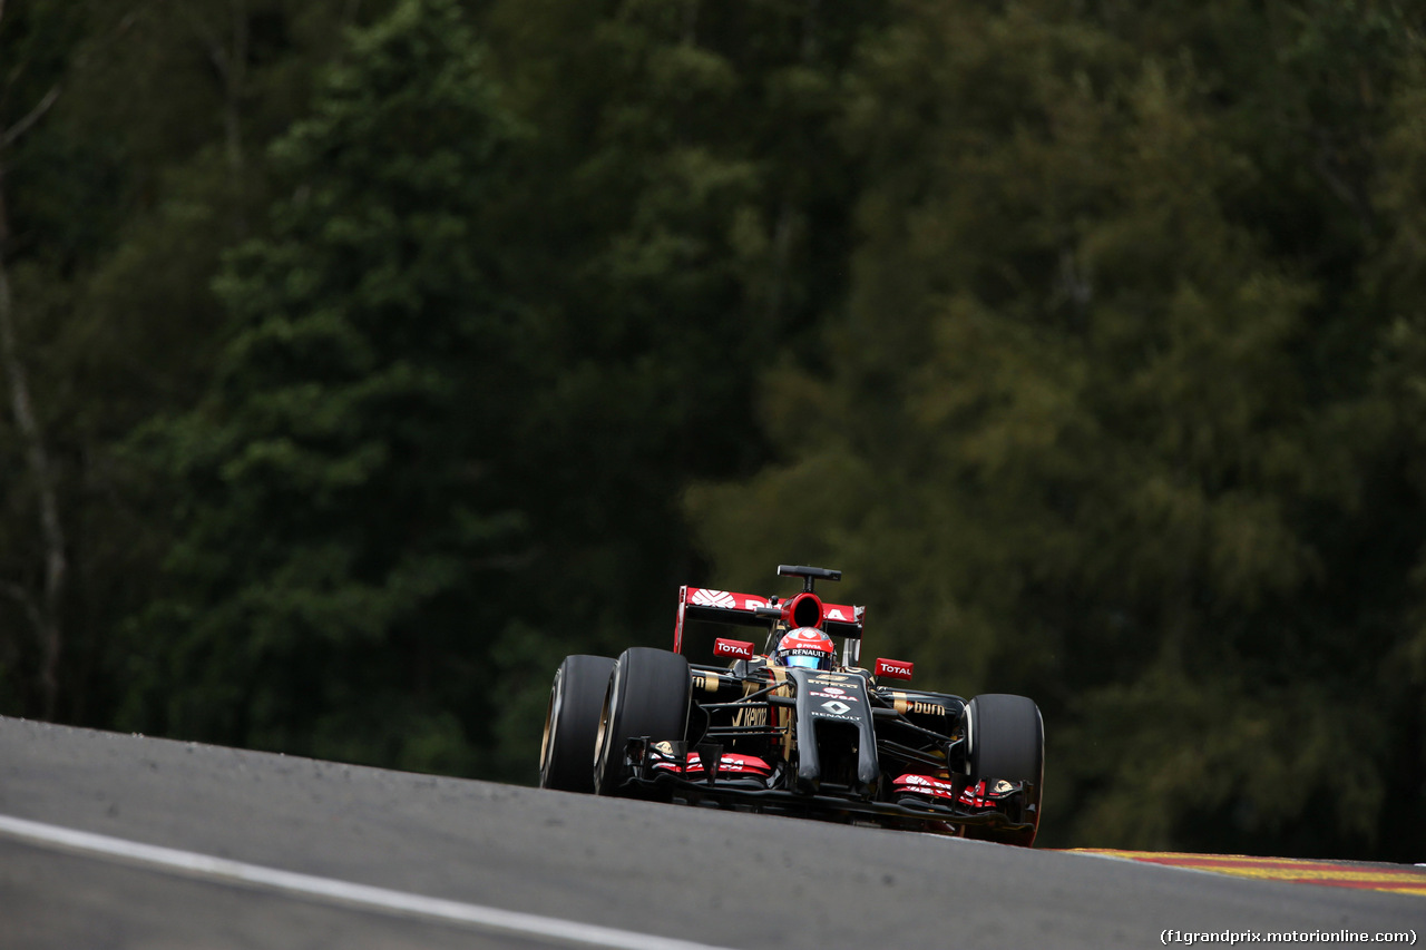
{"label": "grey asphalt race track surface sloping down to the right", "polygon": [[[0,719],[0,816],[717,947],[1148,947],[1426,899]],[[0,949],[546,947],[0,833]],[[1323,946],[1323,944],[1319,944]],[[1349,944],[1359,946],[1359,944]]]}

